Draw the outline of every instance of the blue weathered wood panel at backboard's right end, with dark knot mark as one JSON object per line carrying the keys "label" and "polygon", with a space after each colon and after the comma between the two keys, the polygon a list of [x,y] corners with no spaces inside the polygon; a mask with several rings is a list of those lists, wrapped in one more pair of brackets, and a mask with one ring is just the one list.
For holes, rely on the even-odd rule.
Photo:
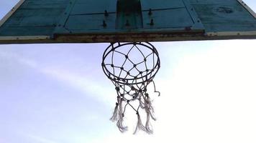
{"label": "blue weathered wood panel at backboard's right end, with dark knot mark", "polygon": [[256,31],[256,19],[237,0],[190,0],[206,28],[213,31]]}

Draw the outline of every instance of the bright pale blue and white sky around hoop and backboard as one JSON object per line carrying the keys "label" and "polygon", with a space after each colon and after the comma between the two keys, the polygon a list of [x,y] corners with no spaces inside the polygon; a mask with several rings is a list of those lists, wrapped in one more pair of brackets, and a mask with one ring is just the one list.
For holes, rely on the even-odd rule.
{"label": "bright pale blue and white sky around hoop and backboard", "polygon": [[[254,0],[246,1],[256,11]],[[0,18],[17,0],[0,1]],[[154,134],[109,121],[108,44],[0,45],[0,143],[256,142],[256,40],[153,43],[161,58]]]}

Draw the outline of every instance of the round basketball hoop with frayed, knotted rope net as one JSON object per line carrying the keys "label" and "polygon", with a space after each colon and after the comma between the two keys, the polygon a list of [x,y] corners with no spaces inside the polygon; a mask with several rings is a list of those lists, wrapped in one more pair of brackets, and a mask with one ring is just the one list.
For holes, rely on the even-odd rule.
{"label": "round basketball hoop with frayed, knotted rope net", "polygon": [[[150,118],[155,120],[155,117],[147,86],[152,83],[155,88],[153,78],[160,69],[160,58],[155,47],[147,42],[110,44],[104,51],[102,68],[106,77],[113,82],[117,94],[111,121],[116,121],[120,132],[125,132],[127,127],[124,126],[123,120],[129,106],[137,114],[137,127],[134,134],[138,129],[151,134]],[[160,92],[157,93],[160,96]],[[132,102],[137,102],[137,107]],[[141,121],[140,109],[147,114],[145,125]]]}

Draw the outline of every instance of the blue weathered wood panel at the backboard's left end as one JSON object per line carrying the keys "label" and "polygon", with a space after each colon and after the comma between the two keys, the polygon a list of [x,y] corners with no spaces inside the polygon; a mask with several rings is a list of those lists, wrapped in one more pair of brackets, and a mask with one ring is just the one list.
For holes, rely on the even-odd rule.
{"label": "blue weathered wood panel at the backboard's left end", "polygon": [[51,35],[68,0],[26,0],[0,27],[0,36]]}

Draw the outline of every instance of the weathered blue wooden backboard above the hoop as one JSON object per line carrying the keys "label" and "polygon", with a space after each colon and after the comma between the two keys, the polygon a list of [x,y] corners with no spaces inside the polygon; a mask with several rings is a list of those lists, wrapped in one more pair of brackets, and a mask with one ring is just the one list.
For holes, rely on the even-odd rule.
{"label": "weathered blue wooden backboard above the hoop", "polygon": [[20,0],[0,44],[256,39],[241,0]]}

